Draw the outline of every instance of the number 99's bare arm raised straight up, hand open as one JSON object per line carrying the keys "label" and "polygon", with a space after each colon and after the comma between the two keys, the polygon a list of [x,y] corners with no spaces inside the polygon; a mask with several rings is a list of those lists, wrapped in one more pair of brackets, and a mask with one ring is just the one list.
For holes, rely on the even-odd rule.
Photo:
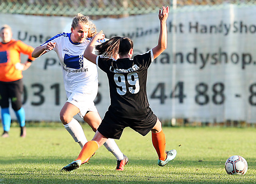
{"label": "number 99's bare arm raised straight up, hand open", "polygon": [[158,44],[152,49],[154,58],[157,58],[167,48],[167,27],[166,20],[169,15],[169,6],[162,7],[162,11],[159,10],[158,18],[160,20],[160,33],[158,38]]}

